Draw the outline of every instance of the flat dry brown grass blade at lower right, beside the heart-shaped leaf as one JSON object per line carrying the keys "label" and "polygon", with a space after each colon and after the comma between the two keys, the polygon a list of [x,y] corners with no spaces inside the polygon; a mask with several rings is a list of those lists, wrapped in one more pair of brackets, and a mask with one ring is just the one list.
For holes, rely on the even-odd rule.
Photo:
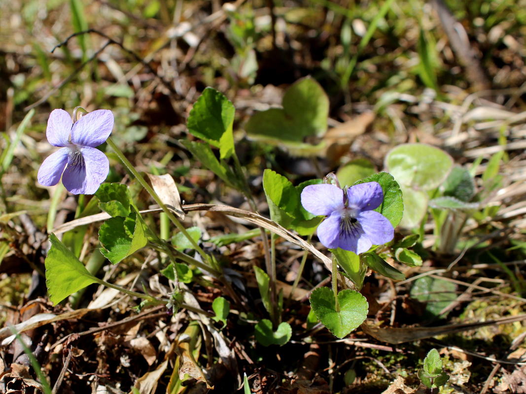
{"label": "flat dry brown grass blade at lower right, beside the heart-shaped leaf", "polygon": [[522,320],[526,320],[526,315],[503,317],[497,320],[489,320],[488,322],[449,324],[441,327],[379,328],[372,327],[365,322],[361,325],[361,328],[364,333],[375,339],[387,342],[388,344],[398,345],[413,340],[431,338],[436,335],[461,333],[462,331],[468,331],[479,327],[521,322]]}

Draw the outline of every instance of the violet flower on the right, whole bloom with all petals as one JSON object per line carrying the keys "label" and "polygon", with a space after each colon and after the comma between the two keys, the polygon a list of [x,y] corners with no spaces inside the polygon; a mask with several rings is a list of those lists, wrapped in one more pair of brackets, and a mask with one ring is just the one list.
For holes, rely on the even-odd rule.
{"label": "violet flower on the right, whole bloom with all petals", "polygon": [[309,185],[301,204],[314,215],[328,216],[318,226],[318,238],[329,249],[338,247],[360,254],[393,239],[395,229],[381,213],[373,211],[383,201],[378,182],[351,186],[347,193],[336,185]]}

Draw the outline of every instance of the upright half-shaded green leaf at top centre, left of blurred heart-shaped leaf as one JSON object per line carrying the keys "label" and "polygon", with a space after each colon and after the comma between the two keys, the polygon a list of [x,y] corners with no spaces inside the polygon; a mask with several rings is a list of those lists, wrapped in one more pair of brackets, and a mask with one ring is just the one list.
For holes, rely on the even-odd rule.
{"label": "upright half-shaded green leaf at top centre, left of blurred heart-shaped leaf", "polygon": [[206,88],[188,115],[188,131],[219,148],[223,134],[232,131],[235,112],[234,105],[224,94]]}

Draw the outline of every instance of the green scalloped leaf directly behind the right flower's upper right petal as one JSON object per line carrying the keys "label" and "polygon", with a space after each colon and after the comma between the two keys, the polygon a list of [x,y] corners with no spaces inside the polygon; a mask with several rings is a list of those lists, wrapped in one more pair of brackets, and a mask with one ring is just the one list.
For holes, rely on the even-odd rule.
{"label": "green scalloped leaf directly behind the right flower's upper right petal", "polygon": [[355,185],[367,182],[378,182],[380,186],[382,186],[383,202],[377,209],[375,209],[375,211],[380,212],[391,222],[393,227],[396,227],[400,223],[400,220],[405,213],[404,209],[406,209],[405,207],[407,206],[404,205],[402,191],[400,190],[397,181],[395,181],[395,178],[393,178],[391,174],[380,172],[355,182]]}

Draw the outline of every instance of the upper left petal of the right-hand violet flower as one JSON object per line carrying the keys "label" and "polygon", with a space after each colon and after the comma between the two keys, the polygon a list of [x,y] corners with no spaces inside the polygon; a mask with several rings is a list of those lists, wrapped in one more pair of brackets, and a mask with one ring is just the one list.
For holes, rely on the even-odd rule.
{"label": "upper left petal of the right-hand violet flower", "polygon": [[343,209],[343,190],[330,184],[308,185],[301,192],[301,205],[313,215],[330,215]]}

